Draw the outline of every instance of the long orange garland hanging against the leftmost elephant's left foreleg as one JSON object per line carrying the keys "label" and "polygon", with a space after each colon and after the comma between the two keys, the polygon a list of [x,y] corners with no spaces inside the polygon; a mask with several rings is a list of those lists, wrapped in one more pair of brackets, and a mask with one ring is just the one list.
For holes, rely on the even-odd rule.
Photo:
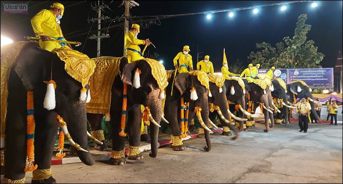
{"label": "long orange garland hanging against the leftmost elephant's left foreleg", "polygon": [[34,136],[35,136],[35,117],[33,110],[33,91],[27,92],[27,116],[26,116],[26,133],[27,133],[27,143],[26,143],[26,166],[24,168],[25,172],[33,171],[37,169],[37,164],[33,165],[32,161],[34,159]]}

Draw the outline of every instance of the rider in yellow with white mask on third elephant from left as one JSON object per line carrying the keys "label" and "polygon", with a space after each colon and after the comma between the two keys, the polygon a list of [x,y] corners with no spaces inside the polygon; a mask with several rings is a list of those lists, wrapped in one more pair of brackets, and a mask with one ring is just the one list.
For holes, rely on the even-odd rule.
{"label": "rider in yellow with white mask on third elephant from left", "polygon": [[[189,54],[190,46],[183,46],[183,52],[179,52],[173,59],[175,70],[178,69],[178,72],[187,73],[193,70],[193,61],[192,55]],[[177,60],[179,62],[177,63]]]}

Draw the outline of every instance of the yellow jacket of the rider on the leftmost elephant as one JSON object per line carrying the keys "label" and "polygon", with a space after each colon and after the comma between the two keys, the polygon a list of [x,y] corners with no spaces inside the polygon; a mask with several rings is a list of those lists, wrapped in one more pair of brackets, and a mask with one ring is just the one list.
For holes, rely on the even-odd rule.
{"label": "yellow jacket of the rider on the leftmost elephant", "polygon": [[41,35],[63,37],[60,24],[56,22],[56,16],[51,10],[43,9],[38,12],[31,18],[31,25],[37,37]]}

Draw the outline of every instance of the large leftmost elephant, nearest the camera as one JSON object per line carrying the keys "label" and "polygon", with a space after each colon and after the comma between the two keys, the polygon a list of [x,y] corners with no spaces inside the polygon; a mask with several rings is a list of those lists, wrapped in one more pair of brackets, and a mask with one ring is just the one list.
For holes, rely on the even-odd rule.
{"label": "large leftmost elephant, nearest the camera", "polygon": [[[16,42],[13,44],[16,44]],[[15,48],[15,46],[13,47]],[[12,45],[9,45],[9,47],[12,47]],[[3,57],[2,49],[3,47],[1,47],[1,57]],[[44,96],[47,91],[46,84],[43,81],[49,81],[51,77],[57,85],[55,89],[56,107],[47,110],[43,106]],[[86,85],[86,89],[88,87]],[[35,172],[46,171],[51,167],[55,136],[59,127],[56,121],[57,115],[60,115],[66,121],[71,137],[83,148],[77,151],[81,161],[88,166],[94,164],[94,158],[86,151],[88,148],[86,101],[79,99],[81,89],[81,83],[66,73],[64,62],[57,55],[39,48],[38,42],[28,42],[22,47],[10,69],[8,81],[8,103],[5,121],[6,150],[4,154],[4,178],[8,179],[7,182],[23,182],[22,180],[25,177],[23,168],[27,156],[26,116],[28,112],[26,114],[26,105],[28,91],[34,91],[33,106],[34,121],[36,123],[34,162],[38,165],[38,168],[33,171],[32,183],[56,183],[52,175],[48,175],[42,180],[35,180]],[[66,137],[68,138],[68,136]]]}

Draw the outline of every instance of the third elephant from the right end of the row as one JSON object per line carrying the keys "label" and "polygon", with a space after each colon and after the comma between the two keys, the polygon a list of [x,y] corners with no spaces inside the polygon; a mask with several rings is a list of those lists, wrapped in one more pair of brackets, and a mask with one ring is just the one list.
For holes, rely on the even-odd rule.
{"label": "third elephant from the right end of the row", "polygon": [[[246,79],[243,79],[245,83],[245,100],[248,101],[248,96],[250,95],[250,100],[255,103],[262,103],[263,106],[263,114],[264,114],[264,121],[266,129],[264,129],[264,132],[269,132],[269,129],[274,126],[274,118],[273,118],[273,111],[269,109],[269,107],[272,107],[272,94],[268,87],[265,87],[265,90],[263,90],[259,85],[257,85],[254,82],[247,82]],[[256,79],[260,80],[260,79]],[[257,106],[255,106],[254,111],[257,109]],[[254,116],[252,116],[254,117]],[[269,127],[268,120],[271,121],[271,126]]]}

